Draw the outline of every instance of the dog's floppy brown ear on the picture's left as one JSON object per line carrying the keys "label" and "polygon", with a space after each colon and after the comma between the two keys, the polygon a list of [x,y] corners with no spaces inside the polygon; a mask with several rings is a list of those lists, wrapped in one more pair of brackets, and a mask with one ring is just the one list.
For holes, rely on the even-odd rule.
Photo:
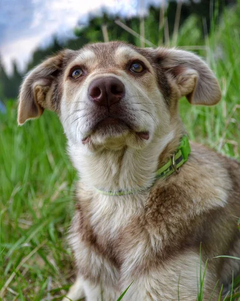
{"label": "dog's floppy brown ear on the picture's left", "polygon": [[33,69],[24,79],[19,95],[19,124],[40,117],[45,108],[58,111],[61,94],[58,77],[72,53],[71,50],[59,52]]}

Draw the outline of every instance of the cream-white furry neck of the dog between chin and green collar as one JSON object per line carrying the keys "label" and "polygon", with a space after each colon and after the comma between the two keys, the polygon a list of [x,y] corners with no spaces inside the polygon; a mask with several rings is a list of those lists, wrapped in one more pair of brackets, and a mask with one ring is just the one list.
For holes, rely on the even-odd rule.
{"label": "cream-white furry neck of the dog between chin and green collar", "polygon": [[182,130],[171,130],[163,137],[153,138],[140,150],[104,148],[101,152],[83,155],[77,148],[70,148],[70,156],[85,187],[137,191],[153,184],[156,170],[173,155],[182,134]]}

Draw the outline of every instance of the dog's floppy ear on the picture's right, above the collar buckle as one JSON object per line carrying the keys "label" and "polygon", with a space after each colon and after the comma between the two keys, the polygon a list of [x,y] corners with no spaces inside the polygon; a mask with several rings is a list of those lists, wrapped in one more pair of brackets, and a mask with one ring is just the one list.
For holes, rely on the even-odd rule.
{"label": "dog's floppy ear on the picture's right, above the collar buckle", "polygon": [[191,104],[213,105],[221,99],[218,82],[197,55],[176,49],[158,48],[157,59],[161,69],[176,89],[177,96],[186,96]]}

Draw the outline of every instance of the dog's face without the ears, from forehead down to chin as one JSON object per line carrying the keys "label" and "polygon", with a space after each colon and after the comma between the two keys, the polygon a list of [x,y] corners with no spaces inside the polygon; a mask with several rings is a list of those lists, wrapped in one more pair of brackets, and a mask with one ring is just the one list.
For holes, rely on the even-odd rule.
{"label": "dog's face without the ears, from forehead down to chin", "polygon": [[125,44],[77,52],[64,73],[60,110],[69,139],[91,149],[145,145],[169,123],[167,79],[159,76],[158,83],[146,51]]}

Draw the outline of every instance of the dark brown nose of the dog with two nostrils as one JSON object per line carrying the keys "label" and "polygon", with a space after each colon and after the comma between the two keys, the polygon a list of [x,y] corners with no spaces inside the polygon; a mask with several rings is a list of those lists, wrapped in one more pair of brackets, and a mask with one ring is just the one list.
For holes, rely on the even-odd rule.
{"label": "dark brown nose of the dog with two nostrils", "polygon": [[124,84],[113,76],[97,78],[88,88],[88,98],[98,105],[107,107],[119,102],[124,94]]}

